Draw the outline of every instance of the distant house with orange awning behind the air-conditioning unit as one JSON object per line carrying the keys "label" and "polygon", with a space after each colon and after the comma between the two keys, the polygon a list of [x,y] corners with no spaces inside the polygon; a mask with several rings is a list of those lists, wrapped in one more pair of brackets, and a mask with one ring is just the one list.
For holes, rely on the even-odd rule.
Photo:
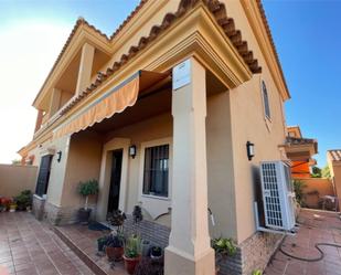
{"label": "distant house with orange awning behind the air-conditioning unit", "polygon": [[317,162],[312,158],[318,154],[318,141],[303,138],[299,126],[287,127],[286,154],[291,160],[291,176],[294,179],[311,178],[311,168]]}

